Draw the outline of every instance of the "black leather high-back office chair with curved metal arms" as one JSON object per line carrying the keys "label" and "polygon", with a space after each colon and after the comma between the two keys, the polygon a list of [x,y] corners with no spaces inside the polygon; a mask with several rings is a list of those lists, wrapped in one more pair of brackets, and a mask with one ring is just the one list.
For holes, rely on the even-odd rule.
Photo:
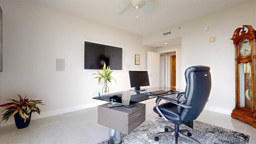
{"label": "black leather high-back office chair with curved metal arms", "polygon": [[[178,100],[164,96],[156,99],[156,106],[153,108],[154,112],[159,114],[160,117],[163,117],[164,120],[175,124],[175,128],[165,126],[165,132],[157,133],[155,135],[155,141],[159,140],[158,136],[160,135],[170,134],[175,136],[175,144],[178,144],[179,136],[200,144],[198,141],[189,137],[192,136],[189,130],[179,130],[179,124],[195,120],[204,109],[211,91],[210,67],[189,67],[185,71],[185,78],[187,84],[186,91],[178,94]],[[186,100],[179,101],[182,95],[185,96]],[[160,100],[166,100],[168,102],[159,104]],[[184,132],[188,132],[188,136],[183,134]]]}

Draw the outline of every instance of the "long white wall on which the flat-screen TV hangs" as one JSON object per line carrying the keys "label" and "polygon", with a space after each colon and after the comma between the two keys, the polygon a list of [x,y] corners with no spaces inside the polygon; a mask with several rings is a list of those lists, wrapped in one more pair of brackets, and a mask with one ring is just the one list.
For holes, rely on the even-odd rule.
{"label": "long white wall on which the flat-screen TV hangs", "polygon": [[[84,70],[84,41],[123,48],[123,70],[114,70],[117,84],[110,92],[130,88],[130,70],[146,70],[147,51],[142,36],[89,20],[33,1],[1,1],[3,10],[3,72],[0,73],[0,100],[17,99],[17,93],[41,99],[42,114],[32,119],[61,114],[100,104],[92,97],[102,85]],[[134,55],[140,55],[140,65]],[[65,72],[55,71],[55,59],[65,59]],[[90,92],[93,91],[94,95]],[[8,121],[14,123],[13,120]],[[8,123],[7,123],[8,124]]]}

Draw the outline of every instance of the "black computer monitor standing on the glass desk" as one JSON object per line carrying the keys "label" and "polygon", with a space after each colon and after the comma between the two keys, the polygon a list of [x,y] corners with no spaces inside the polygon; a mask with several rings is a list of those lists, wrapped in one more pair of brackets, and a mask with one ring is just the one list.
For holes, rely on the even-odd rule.
{"label": "black computer monitor standing on the glass desk", "polygon": [[143,91],[140,86],[150,86],[147,71],[129,71],[131,88],[136,91]]}

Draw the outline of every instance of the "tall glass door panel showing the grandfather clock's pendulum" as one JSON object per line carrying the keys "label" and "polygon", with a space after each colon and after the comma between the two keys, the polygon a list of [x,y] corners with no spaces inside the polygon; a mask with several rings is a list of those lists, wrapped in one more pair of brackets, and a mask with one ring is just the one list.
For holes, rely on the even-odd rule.
{"label": "tall glass door panel showing the grandfather clock's pendulum", "polygon": [[251,63],[239,64],[240,107],[252,110],[252,71]]}

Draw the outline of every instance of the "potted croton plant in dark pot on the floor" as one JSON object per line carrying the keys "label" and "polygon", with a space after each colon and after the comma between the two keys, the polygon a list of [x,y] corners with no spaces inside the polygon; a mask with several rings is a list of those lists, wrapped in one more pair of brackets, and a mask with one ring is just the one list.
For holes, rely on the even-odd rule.
{"label": "potted croton plant in dark pot on the floor", "polygon": [[2,112],[5,111],[5,113],[2,114],[1,122],[5,120],[4,123],[6,123],[10,117],[14,116],[15,124],[17,128],[20,129],[28,127],[32,112],[40,114],[41,110],[37,107],[37,104],[44,104],[42,104],[42,100],[29,100],[28,98],[26,99],[26,97],[22,98],[19,94],[18,98],[19,100],[8,99],[11,101],[10,103],[0,105],[4,107]]}

